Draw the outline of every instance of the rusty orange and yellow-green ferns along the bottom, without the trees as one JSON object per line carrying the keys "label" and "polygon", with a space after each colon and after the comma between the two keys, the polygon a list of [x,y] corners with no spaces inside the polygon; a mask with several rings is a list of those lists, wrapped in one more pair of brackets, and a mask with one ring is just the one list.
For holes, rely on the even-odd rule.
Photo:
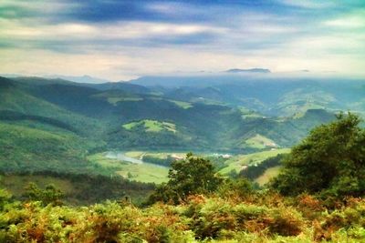
{"label": "rusty orange and yellow-green ferns along the bottom, without the trees", "polygon": [[[236,191],[238,193],[238,191]],[[365,201],[348,197],[328,210],[308,195],[189,196],[183,204],[136,208],[14,202],[0,210],[0,242],[362,242]],[[3,198],[3,197],[2,197]],[[317,214],[308,217],[306,210]]]}

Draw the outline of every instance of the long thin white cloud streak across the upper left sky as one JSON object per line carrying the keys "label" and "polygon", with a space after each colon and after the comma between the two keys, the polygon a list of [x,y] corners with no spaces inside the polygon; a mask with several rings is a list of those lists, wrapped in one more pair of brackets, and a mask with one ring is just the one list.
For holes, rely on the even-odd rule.
{"label": "long thin white cloud streak across the upper left sky", "polygon": [[[149,22],[120,22],[112,25],[87,25],[63,23],[58,25],[26,25],[18,20],[1,20],[0,34],[9,39],[33,38],[54,39],[76,38],[85,40],[133,39],[153,36],[193,35],[200,33],[223,34],[223,27],[209,25],[175,25]],[[70,39],[72,40],[72,39]]]}

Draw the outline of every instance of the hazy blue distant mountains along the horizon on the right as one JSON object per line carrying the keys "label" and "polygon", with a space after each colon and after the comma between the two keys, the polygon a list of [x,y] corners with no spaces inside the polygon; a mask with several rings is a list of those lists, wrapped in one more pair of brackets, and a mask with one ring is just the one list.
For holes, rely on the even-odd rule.
{"label": "hazy blue distant mountains along the horizon on the right", "polygon": [[142,76],[130,84],[185,102],[244,106],[266,116],[294,116],[318,108],[365,114],[365,82],[360,79],[224,73]]}

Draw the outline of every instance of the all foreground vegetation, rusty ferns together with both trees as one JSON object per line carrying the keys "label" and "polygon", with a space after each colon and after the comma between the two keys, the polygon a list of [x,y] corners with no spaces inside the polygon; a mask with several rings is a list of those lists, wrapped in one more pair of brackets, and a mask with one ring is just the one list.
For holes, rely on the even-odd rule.
{"label": "all foreground vegetation, rusty ferns together with both trees", "polygon": [[313,130],[262,190],[245,178],[222,179],[208,160],[193,155],[172,162],[169,182],[145,208],[128,200],[70,208],[54,187],[30,187],[23,202],[1,190],[0,241],[363,242],[365,130],[359,123],[349,114]]}

